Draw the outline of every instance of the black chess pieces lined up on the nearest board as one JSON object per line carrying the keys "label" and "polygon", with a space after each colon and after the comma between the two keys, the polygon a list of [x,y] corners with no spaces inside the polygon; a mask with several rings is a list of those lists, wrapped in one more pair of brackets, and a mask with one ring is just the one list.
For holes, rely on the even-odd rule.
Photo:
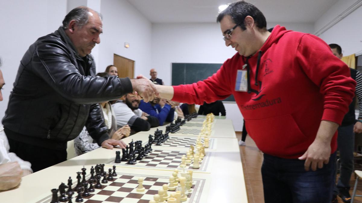
{"label": "black chess pieces lined up on the nearest board", "polygon": [[[86,168],[81,169],[82,172],[77,172],[77,185],[72,188],[72,178],[69,177],[68,179],[68,185],[65,185],[63,182],[59,185],[59,189],[52,189],[52,199],[50,203],[59,203],[59,202],[67,202],[72,203],[72,195],[74,194],[74,191],[77,191],[78,195],[75,199],[75,202],[83,202],[82,196],[89,196],[90,193],[93,193],[95,190],[94,188],[101,188],[102,183],[108,183],[109,180],[113,180],[115,176],[117,176],[117,173],[115,172],[115,166],[113,166],[113,172],[112,169],[108,169],[108,177],[107,173],[104,171],[104,164],[97,164],[96,167],[93,168],[93,166],[90,168],[90,178],[86,180],[85,175]],[[96,175],[94,175],[96,173]],[[83,178],[80,176],[82,175]],[[103,177],[103,180],[101,181],[101,178]],[[82,179],[82,180],[81,180]],[[93,183],[95,185],[93,186]],[[88,187],[89,184],[89,187]],[[66,191],[66,189],[68,189]],[[58,191],[60,196],[58,197]],[[67,196],[66,196],[67,195]]]}

